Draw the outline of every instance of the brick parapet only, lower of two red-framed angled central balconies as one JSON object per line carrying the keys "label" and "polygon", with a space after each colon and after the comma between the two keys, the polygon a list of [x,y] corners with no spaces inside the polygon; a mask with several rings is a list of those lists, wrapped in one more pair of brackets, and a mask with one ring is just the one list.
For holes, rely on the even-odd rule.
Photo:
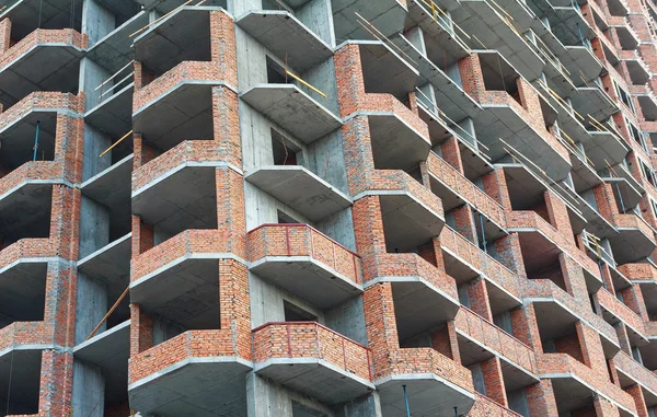
{"label": "brick parapet only, lower of two red-framed angled central balconies", "polygon": [[316,322],[267,323],[253,329],[253,361],[312,358],[371,381],[369,349]]}

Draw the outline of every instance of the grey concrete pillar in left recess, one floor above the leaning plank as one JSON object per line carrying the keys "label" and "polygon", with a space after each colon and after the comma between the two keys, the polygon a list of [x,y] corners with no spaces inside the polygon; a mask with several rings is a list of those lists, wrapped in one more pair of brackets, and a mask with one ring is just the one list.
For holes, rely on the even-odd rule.
{"label": "grey concrete pillar in left recess, one floor above the leaning plank", "polygon": [[110,243],[110,210],[84,195],[80,207],[80,258]]}

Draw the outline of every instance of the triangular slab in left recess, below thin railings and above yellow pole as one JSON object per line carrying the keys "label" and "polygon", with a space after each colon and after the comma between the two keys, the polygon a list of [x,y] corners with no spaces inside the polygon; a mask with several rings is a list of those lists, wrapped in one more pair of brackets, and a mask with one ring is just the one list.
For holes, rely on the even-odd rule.
{"label": "triangular slab in left recess, below thin railings and above yellow pole", "polygon": [[110,95],[84,114],[84,121],[113,138],[120,138],[132,128],[132,94],[130,83]]}

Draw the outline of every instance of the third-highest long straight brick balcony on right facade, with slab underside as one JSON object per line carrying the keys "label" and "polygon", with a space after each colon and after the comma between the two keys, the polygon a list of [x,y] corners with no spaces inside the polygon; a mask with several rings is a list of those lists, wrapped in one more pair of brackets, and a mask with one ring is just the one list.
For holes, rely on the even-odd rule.
{"label": "third-highest long straight brick balcony on right facade, with slab underside", "polygon": [[497,356],[502,359],[502,373],[508,391],[539,381],[535,354],[531,347],[464,306],[457,314],[456,326],[464,366]]}

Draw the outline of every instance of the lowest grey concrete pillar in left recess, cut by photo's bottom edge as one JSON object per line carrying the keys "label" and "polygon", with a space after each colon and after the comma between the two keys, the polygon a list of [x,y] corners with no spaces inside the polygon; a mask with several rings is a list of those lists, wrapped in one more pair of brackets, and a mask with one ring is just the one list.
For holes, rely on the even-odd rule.
{"label": "lowest grey concrete pillar in left recess, cut by photo's bottom edge", "polygon": [[72,417],[103,417],[105,378],[101,368],[81,360],[73,361]]}

